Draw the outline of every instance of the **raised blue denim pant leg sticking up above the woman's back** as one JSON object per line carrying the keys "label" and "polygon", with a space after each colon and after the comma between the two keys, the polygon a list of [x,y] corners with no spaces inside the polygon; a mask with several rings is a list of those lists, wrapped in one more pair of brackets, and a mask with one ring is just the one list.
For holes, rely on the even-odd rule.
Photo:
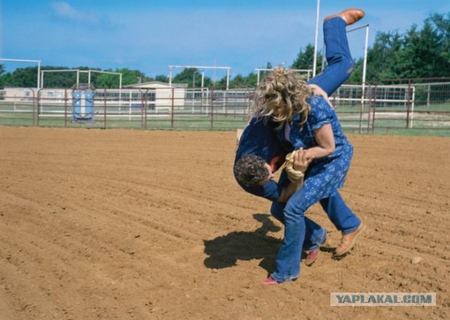
{"label": "raised blue denim pant leg sticking up above the woman's back", "polygon": [[319,75],[309,80],[331,96],[352,74],[354,61],[350,53],[345,27],[347,23],[340,17],[323,22],[323,40],[326,45],[328,65]]}

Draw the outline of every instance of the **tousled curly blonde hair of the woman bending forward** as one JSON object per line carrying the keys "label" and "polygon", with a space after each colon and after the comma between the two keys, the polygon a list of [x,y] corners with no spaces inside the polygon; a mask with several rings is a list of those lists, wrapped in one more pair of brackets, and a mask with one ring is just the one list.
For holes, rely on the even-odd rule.
{"label": "tousled curly blonde hair of the woman bending forward", "polygon": [[292,70],[276,68],[255,91],[255,115],[271,116],[283,126],[283,122],[293,120],[293,115],[298,113],[302,125],[310,113],[311,106],[307,98],[312,95],[312,89]]}

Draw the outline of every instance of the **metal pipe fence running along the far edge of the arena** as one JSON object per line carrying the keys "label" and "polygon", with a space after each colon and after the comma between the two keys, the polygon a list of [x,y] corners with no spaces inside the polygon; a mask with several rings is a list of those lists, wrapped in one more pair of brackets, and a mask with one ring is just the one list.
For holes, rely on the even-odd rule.
{"label": "metal pipe fence running along the far edge of the arena", "polygon": [[[345,84],[330,101],[347,132],[450,136],[450,81],[439,80],[366,85],[364,99],[361,85]],[[254,90],[96,89],[91,118],[84,119],[71,89],[6,88],[0,125],[234,130],[248,122]]]}

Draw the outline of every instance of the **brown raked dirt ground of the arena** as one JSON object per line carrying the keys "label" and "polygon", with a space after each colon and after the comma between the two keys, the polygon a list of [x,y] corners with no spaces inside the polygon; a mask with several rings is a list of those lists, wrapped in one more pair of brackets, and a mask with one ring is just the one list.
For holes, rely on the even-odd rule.
{"label": "brown raked dirt ground of the arena", "polygon": [[234,132],[0,127],[0,319],[450,319],[450,139],[349,140],[342,196],[368,230],[332,260],[340,233],[311,207],[328,245],[267,288],[283,229],[233,180]]}

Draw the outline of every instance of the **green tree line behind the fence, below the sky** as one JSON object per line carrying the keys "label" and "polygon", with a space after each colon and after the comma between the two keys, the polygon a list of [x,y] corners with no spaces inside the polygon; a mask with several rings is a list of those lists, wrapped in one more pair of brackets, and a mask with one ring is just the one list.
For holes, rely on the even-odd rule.
{"label": "green tree line behind the fence, below the sky", "polygon": [[[367,52],[366,82],[375,83],[381,79],[394,78],[423,78],[423,77],[449,77],[450,76],[450,13],[434,13],[425,19],[423,27],[412,25],[404,34],[396,31],[378,32],[375,34],[373,46]],[[307,44],[300,48],[300,52],[289,68],[312,69],[314,61],[314,46]],[[321,70],[322,53],[317,56],[316,70]],[[360,83],[363,73],[363,58],[355,61],[355,68],[349,82]],[[267,63],[266,69],[272,68]],[[43,66],[41,70],[89,70],[87,67],[65,68]],[[122,86],[140,82],[169,82],[166,75],[148,77],[139,70],[122,69],[93,69],[107,72],[122,73]],[[260,75],[264,77],[264,72]],[[80,73],[79,82],[87,83],[86,72]],[[195,81],[195,83],[194,83]],[[188,87],[200,87],[202,72],[196,68],[186,68],[172,79],[173,83],[186,84]],[[76,72],[45,72],[44,87],[70,88],[76,83]],[[119,77],[117,75],[92,72],[91,83],[96,88],[117,88]],[[236,75],[229,79],[230,87],[254,87],[257,83],[257,74]],[[210,77],[203,78],[204,87],[213,85],[224,86],[226,77],[213,82]],[[13,72],[6,72],[4,65],[0,64],[0,87],[37,87],[37,67],[18,68]]]}

